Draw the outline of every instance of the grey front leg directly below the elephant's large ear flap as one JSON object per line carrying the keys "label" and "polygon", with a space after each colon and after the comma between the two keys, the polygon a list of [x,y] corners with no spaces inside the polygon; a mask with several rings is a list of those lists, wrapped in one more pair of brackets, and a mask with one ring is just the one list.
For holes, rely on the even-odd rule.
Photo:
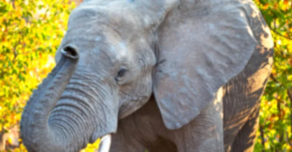
{"label": "grey front leg directly below the elephant's large ear flap", "polygon": [[190,123],[174,130],[178,152],[223,152],[222,89]]}

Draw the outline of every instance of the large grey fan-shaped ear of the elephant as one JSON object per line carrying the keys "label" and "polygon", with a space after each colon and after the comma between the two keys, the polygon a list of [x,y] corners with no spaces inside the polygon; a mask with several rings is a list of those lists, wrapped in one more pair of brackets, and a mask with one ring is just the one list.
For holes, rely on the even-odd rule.
{"label": "large grey fan-shaped ear of the elephant", "polygon": [[256,47],[242,3],[210,1],[181,5],[156,31],[156,56],[164,62],[154,73],[153,91],[168,129],[181,128],[200,114],[218,89],[243,70]]}

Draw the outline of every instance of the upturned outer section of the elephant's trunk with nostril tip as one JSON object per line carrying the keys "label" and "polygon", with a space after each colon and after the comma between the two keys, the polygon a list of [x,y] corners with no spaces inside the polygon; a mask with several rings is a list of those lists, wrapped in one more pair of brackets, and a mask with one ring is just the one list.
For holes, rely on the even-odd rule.
{"label": "upturned outer section of the elephant's trunk with nostril tip", "polygon": [[29,152],[74,151],[74,141],[48,123],[51,111],[66,89],[79,58],[74,45],[67,45],[61,52],[61,59],[34,91],[21,115],[20,134]]}

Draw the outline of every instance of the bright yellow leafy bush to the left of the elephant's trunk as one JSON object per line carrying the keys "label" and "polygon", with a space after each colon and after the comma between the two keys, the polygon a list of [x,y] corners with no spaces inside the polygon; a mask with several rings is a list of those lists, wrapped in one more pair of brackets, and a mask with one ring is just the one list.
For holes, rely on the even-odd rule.
{"label": "bright yellow leafy bush to the left of the elephant's trunk", "polygon": [[55,66],[74,7],[68,0],[0,1],[0,137],[19,124],[32,90]]}

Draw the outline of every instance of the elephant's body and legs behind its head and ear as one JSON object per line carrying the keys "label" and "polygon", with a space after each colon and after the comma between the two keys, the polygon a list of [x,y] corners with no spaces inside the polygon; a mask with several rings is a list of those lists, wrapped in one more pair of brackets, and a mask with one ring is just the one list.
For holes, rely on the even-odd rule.
{"label": "elephant's body and legs behind its head and ear", "polygon": [[[251,16],[254,11],[259,13],[252,1],[247,2],[246,7]],[[225,152],[253,152],[260,100],[272,69],[274,49],[261,15],[251,18],[251,26],[257,40],[252,57],[237,76],[219,89],[223,104],[223,139],[212,132],[212,124],[214,127],[220,122],[214,114],[208,113],[210,108],[221,105],[210,104],[187,125],[168,130],[152,96],[137,112],[119,120],[110,152],[143,152],[145,149],[149,152],[221,152],[223,148],[217,149],[216,145],[222,141]]]}

